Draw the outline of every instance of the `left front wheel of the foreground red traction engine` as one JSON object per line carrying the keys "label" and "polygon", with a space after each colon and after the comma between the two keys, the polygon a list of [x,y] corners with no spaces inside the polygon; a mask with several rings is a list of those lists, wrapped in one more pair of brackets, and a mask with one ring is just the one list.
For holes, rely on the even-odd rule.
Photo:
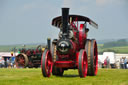
{"label": "left front wheel of the foreground red traction engine", "polygon": [[52,72],[52,56],[49,50],[45,50],[41,58],[41,70],[44,77],[50,77]]}

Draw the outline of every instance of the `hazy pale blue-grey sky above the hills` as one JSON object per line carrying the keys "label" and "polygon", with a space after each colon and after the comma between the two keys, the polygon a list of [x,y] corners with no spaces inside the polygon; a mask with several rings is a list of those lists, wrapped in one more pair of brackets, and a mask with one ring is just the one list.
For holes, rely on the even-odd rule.
{"label": "hazy pale blue-grey sky above the hills", "polygon": [[90,39],[128,39],[128,0],[0,0],[0,45],[58,38],[59,29],[51,21],[61,15],[62,7],[99,25],[89,26]]}

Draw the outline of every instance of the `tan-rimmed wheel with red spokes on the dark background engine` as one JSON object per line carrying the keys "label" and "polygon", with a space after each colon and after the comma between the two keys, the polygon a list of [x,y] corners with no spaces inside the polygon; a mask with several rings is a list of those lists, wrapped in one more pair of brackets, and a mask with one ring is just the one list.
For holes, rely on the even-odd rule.
{"label": "tan-rimmed wheel with red spokes on the dark background engine", "polygon": [[17,68],[25,68],[28,65],[28,57],[26,54],[21,53],[16,56],[15,62]]}

